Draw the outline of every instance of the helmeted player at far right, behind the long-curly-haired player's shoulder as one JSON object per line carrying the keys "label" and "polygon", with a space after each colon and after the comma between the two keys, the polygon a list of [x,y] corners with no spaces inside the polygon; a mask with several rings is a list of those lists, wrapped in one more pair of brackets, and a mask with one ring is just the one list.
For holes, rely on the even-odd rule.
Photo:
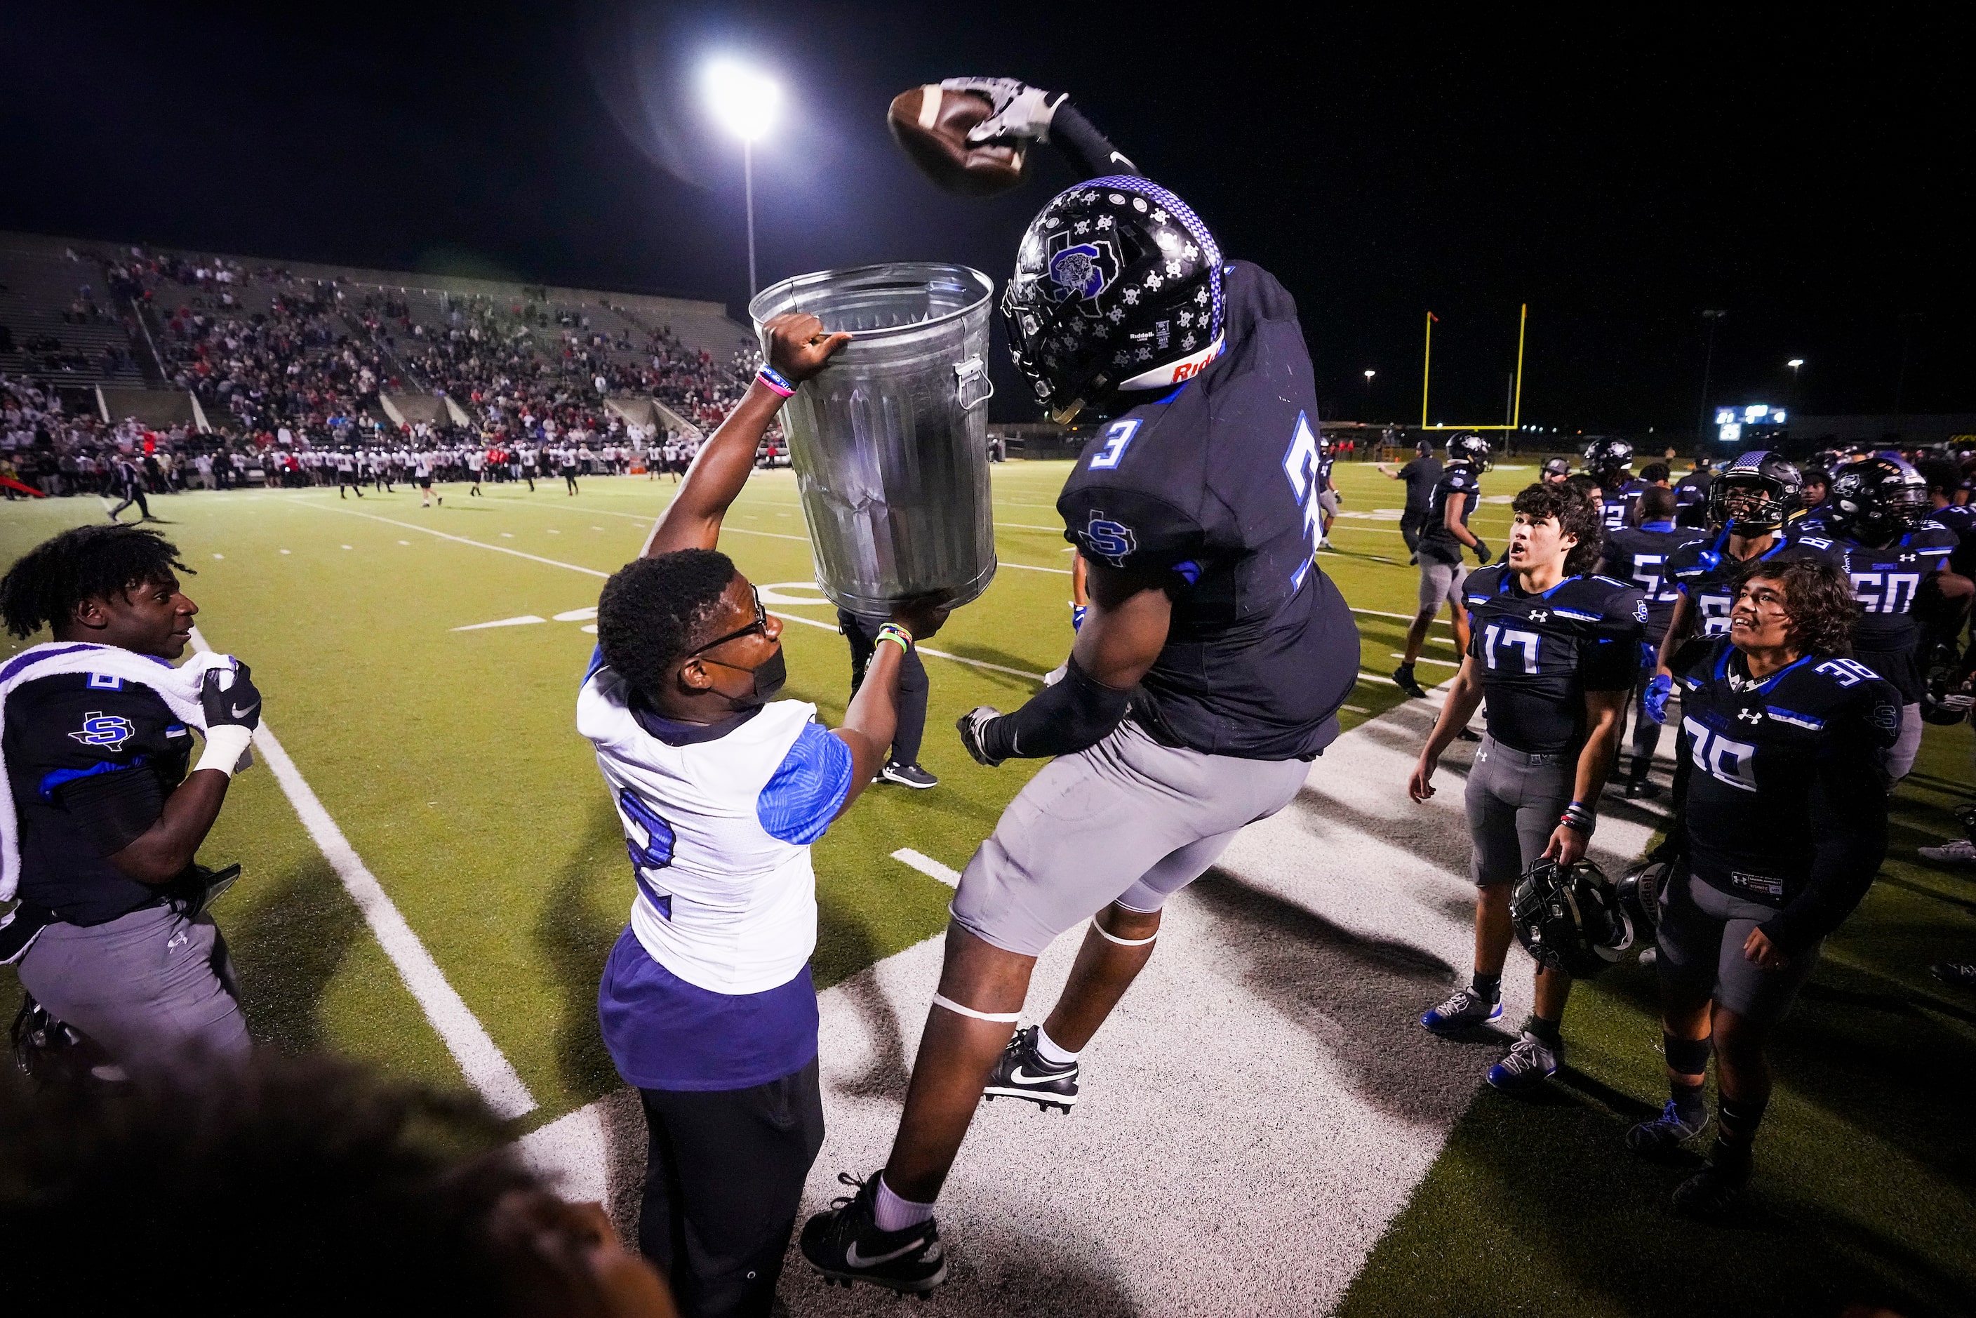
{"label": "helmeted player at far right, behind the long-curly-haired player's shoulder", "polygon": [[1929,516],[1929,484],[1891,456],[1859,458],[1832,474],[1824,508],[1790,528],[1804,545],[1830,545],[1859,601],[1853,658],[1901,692],[1901,739],[1887,751],[1899,783],[1921,753],[1921,618],[1927,597],[1966,599],[1976,585],[1948,567],[1958,537]]}

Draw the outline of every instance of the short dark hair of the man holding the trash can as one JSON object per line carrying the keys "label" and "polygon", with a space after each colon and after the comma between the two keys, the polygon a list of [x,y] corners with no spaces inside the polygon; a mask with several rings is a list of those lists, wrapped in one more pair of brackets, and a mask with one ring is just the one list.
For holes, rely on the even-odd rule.
{"label": "short dark hair of the man holding the trash can", "polygon": [[658,692],[733,579],[733,559],[717,549],[674,549],[626,563],[597,597],[597,646],[605,662],[632,690]]}

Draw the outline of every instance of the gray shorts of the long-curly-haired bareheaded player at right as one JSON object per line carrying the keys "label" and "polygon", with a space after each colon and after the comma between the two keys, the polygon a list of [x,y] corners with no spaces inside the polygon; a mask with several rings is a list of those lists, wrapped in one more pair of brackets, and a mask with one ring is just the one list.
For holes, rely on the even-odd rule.
{"label": "gray shorts of the long-curly-haired bareheaded player at right", "polygon": [[1743,956],[1743,941],[1772,915],[1776,907],[1731,897],[1693,875],[1686,893],[1670,885],[1660,899],[1660,982],[1689,1000],[1713,998],[1751,1024],[1774,1026],[1812,978],[1824,941],[1780,970],[1765,970]]}

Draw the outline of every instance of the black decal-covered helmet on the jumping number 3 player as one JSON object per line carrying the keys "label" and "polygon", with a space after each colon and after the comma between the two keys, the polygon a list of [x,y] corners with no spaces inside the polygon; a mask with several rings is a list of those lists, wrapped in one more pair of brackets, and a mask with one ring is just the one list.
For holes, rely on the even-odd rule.
{"label": "black decal-covered helmet on the jumping number 3 player", "polygon": [[1022,235],[1002,292],[1010,356],[1059,423],[1150,401],[1221,356],[1221,245],[1166,188],[1077,184]]}

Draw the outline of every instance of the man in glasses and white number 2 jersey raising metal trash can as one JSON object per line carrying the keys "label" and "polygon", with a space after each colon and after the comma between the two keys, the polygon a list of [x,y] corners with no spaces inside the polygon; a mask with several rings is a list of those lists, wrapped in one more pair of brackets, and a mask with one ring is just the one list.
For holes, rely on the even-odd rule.
{"label": "man in glasses and white number 2 jersey raising metal trash can", "polygon": [[824,836],[885,763],[899,672],[945,617],[883,624],[826,731],[782,690],[782,624],[713,549],[782,399],[838,352],[816,316],[769,322],[769,368],[713,433],[644,557],[605,583],[577,731],[630,850],[630,925],[597,992],[605,1045],[644,1101],[640,1249],[686,1314],[767,1314],[824,1142],[816,877]]}

